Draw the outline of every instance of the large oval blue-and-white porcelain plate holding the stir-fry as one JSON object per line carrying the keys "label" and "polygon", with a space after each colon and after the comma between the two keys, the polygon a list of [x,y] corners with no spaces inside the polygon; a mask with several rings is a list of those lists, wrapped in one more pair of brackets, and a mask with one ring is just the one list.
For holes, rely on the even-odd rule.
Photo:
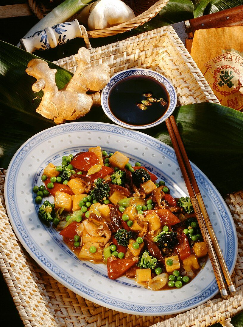
{"label": "large oval blue-and-white porcelain plate holding the stir-fry", "polygon": [[[174,150],[143,133],[116,125],[76,122],[46,129],[31,137],[13,156],[6,176],[5,200],[10,222],[18,239],[33,259],[53,278],[84,298],[117,311],[159,316],[192,309],[209,299],[218,287],[210,261],[198,275],[179,289],[150,291],[133,280],[110,280],[103,264],[79,260],[59,233],[38,219],[32,188],[41,185],[44,167],[59,165],[62,156],[100,145],[139,161],[166,182],[174,197],[188,195]],[[214,185],[192,165],[215,229],[226,264],[233,272],[237,237],[232,216]],[[50,196],[49,200],[53,201]]]}

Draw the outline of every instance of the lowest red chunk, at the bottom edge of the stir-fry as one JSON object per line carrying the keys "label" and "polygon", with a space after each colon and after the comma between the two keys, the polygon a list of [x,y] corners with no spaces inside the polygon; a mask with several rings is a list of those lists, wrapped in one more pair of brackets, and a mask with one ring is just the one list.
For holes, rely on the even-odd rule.
{"label": "lowest red chunk, at the bottom edge of the stir-fry", "polygon": [[115,259],[108,258],[107,271],[110,279],[121,277],[129,268],[134,266],[137,261],[132,259]]}

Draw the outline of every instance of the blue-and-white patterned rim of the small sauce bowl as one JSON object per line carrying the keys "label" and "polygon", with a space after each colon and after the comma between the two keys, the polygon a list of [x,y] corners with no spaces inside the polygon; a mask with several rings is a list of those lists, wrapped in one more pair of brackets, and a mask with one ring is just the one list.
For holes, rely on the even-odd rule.
{"label": "blue-and-white patterned rim of the small sauce bowl", "polygon": [[[146,77],[152,77],[162,83],[164,87],[166,88],[168,94],[169,94],[169,107],[166,110],[165,114],[160,117],[158,120],[145,124],[145,125],[131,125],[128,124],[120,119],[118,119],[110,110],[109,104],[108,104],[108,96],[111,88],[117,83],[120,82],[122,79],[127,78],[127,77],[132,77],[132,76],[146,76]],[[123,70],[115,75],[113,75],[109,81],[109,83],[103,88],[102,93],[101,93],[101,105],[103,108],[104,113],[109,117],[113,122],[116,124],[126,127],[129,129],[145,129],[145,128],[150,128],[154,127],[156,125],[159,125],[163,121],[165,121],[166,118],[168,118],[172,112],[175,110],[176,105],[177,105],[177,93],[172,85],[171,81],[168,80],[168,78],[164,77],[163,75],[159,74],[158,72],[155,72],[153,70],[149,69],[142,69],[142,68],[133,68],[133,69],[127,69]]]}

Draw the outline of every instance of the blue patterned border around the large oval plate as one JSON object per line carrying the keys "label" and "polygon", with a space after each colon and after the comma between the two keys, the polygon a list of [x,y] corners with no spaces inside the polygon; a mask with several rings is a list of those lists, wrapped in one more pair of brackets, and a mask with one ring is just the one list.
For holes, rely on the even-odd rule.
{"label": "blue patterned border around the large oval plate", "polygon": [[[194,296],[194,294],[191,294],[189,298],[187,298],[185,301],[182,301],[180,303],[173,303],[173,304],[167,304],[167,303],[159,303],[154,305],[139,305],[139,299],[135,299],[134,302],[128,301],[128,302],[122,302],[119,301],[118,298],[112,298],[109,296],[104,296],[102,292],[100,292],[99,288],[97,289],[96,285],[94,286],[95,289],[89,289],[86,286],[82,288],[82,282],[80,280],[74,280],[73,278],[70,278],[70,275],[67,271],[62,270],[62,267],[59,267],[56,265],[56,263],[53,261],[47,260],[43,262],[41,260],[41,257],[43,257],[42,249],[40,248],[39,244],[34,244],[32,241],[30,241],[28,244],[26,240],[23,237],[23,232],[26,232],[26,227],[24,224],[20,226],[17,224],[18,219],[21,217],[20,212],[16,210],[16,212],[13,212],[10,208],[15,205],[15,202],[18,202],[18,198],[14,198],[14,194],[11,191],[12,185],[16,185],[18,180],[18,164],[20,162],[21,166],[21,158],[23,158],[25,155],[28,155],[28,153],[31,153],[31,148],[34,148],[35,145],[41,144],[42,142],[49,139],[49,136],[51,135],[62,135],[66,132],[71,131],[100,131],[100,132],[109,132],[114,133],[118,135],[122,135],[124,137],[130,137],[132,139],[135,139],[136,142],[142,142],[145,143],[147,146],[151,146],[154,149],[166,153],[166,155],[172,160],[172,162],[176,162],[176,155],[174,152],[174,149],[170,146],[167,146],[166,144],[160,142],[159,140],[148,136],[146,134],[143,134],[139,131],[132,131],[127,130],[124,128],[120,128],[113,124],[105,124],[105,123],[95,123],[95,122],[74,122],[74,123],[67,123],[60,126],[54,126],[49,129],[46,129],[42,132],[37,133],[36,135],[29,138],[15,153],[13,156],[9,168],[6,175],[6,181],[5,181],[5,201],[6,201],[6,208],[9,215],[9,220],[11,222],[11,225],[13,227],[14,232],[16,233],[18,239],[20,240],[21,244],[24,246],[24,248],[28,251],[30,256],[47,272],[49,273],[53,278],[58,280],[61,284],[66,286],[67,288],[71,289],[72,291],[76,292],[77,294],[83,296],[84,298],[93,301],[95,303],[98,303],[102,306],[105,306],[107,308],[113,309],[113,310],[120,310],[124,313],[129,314],[137,314],[137,315],[146,315],[146,316],[159,316],[159,315],[167,315],[167,314],[176,314],[182,311],[187,311],[190,309],[195,308],[196,306],[205,303],[206,301],[210,300],[212,297],[214,297],[218,293],[218,288],[216,281],[212,282],[210,285],[208,285],[207,289],[204,289],[202,291],[202,294],[199,296]],[[128,135],[129,133],[129,135]],[[140,141],[139,141],[140,140]],[[101,144],[102,146],[102,144]],[[112,145],[112,147],[114,147]],[[162,154],[161,153],[161,154]],[[17,167],[17,168],[16,168]],[[192,167],[194,172],[196,172],[195,176],[196,179],[203,180],[203,183],[205,186],[208,187],[207,193],[208,196],[213,199],[213,202],[215,202],[215,205],[217,205],[217,209],[220,211],[220,215],[222,216],[222,222],[224,224],[224,227],[228,228],[228,231],[226,233],[226,246],[229,252],[229,248],[231,249],[231,253],[233,251],[234,255],[227,255],[225,258],[226,264],[229,267],[230,274],[234,271],[234,266],[236,263],[237,258],[237,234],[236,229],[234,225],[233,218],[229,212],[229,209],[224,202],[221,195],[218,193],[218,191],[215,189],[215,186],[207,179],[207,177],[192,163]],[[16,173],[17,170],[17,173]],[[14,207],[15,208],[15,207]],[[20,232],[21,231],[21,232]],[[228,235],[231,235],[231,240],[228,239]],[[31,238],[30,235],[27,235],[27,237]],[[227,242],[231,244],[227,244]],[[229,253],[228,253],[229,254]],[[45,256],[45,254],[44,254]],[[85,262],[84,262],[85,264]],[[57,272],[58,271],[58,272]],[[162,291],[161,291],[162,292]],[[192,292],[193,293],[193,292]]]}

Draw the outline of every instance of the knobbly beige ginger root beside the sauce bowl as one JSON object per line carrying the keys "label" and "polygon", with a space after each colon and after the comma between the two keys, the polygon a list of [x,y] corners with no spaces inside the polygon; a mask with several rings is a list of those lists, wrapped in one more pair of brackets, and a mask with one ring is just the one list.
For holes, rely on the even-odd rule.
{"label": "knobbly beige ginger root beside the sauce bowl", "polygon": [[108,64],[105,62],[92,67],[89,50],[80,48],[75,59],[78,62],[76,72],[62,90],[56,86],[56,69],[49,68],[47,62],[41,59],[28,62],[26,72],[37,79],[32,90],[44,92],[36,112],[53,119],[56,124],[83,117],[91,106],[100,106],[100,90],[109,82]]}

